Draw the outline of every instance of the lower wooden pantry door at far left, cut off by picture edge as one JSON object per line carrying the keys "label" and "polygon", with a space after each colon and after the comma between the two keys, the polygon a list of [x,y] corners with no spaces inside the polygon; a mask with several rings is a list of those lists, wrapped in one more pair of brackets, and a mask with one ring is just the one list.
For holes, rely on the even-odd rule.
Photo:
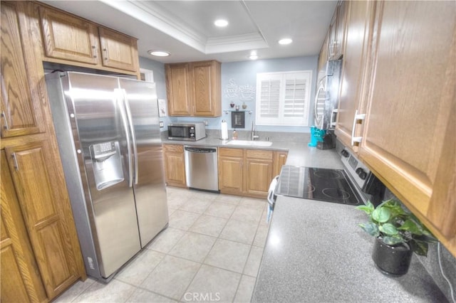
{"label": "lower wooden pantry door at far left, cut off by picture edge", "polygon": [[45,302],[46,292],[33,257],[4,151],[1,151],[1,167],[1,302]]}

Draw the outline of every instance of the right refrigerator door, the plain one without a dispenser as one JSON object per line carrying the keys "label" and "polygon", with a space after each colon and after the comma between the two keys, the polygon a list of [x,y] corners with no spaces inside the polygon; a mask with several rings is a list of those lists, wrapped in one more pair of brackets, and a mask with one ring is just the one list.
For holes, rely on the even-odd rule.
{"label": "right refrigerator door, the plain one without a dispenser", "polygon": [[165,171],[155,83],[119,78],[133,128],[135,192],[141,246],[168,223]]}

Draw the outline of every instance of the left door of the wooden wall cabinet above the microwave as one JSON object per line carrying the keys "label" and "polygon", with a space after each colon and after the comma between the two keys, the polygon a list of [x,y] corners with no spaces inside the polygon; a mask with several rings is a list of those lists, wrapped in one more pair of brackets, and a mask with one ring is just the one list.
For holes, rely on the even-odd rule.
{"label": "left door of the wooden wall cabinet above the microwave", "polygon": [[168,112],[170,116],[190,116],[191,107],[191,81],[188,63],[167,64],[166,92],[168,98]]}

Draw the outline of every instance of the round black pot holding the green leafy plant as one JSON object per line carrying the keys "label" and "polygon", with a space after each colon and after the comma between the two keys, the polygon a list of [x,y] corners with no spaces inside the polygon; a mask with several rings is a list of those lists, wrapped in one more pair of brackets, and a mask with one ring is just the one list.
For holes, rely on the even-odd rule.
{"label": "round black pot holding the green leafy plant", "polygon": [[375,238],[372,259],[378,270],[385,275],[400,277],[408,272],[413,251],[407,243],[395,246],[383,243],[380,238]]}

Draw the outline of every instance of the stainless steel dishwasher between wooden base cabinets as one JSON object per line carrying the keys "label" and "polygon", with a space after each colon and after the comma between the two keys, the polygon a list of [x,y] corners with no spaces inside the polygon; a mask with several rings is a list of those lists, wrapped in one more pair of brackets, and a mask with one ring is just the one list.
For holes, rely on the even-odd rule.
{"label": "stainless steel dishwasher between wooden base cabinets", "polygon": [[187,186],[219,193],[217,147],[185,145],[184,155]]}

